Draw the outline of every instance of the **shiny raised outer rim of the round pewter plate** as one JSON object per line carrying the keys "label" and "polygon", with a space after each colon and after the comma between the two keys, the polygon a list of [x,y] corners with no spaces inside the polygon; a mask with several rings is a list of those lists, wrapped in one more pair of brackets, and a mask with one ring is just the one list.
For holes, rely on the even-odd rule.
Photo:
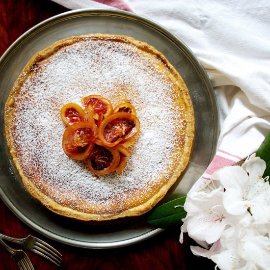
{"label": "shiny raised outer rim of the round pewter plate", "polygon": [[[215,153],[216,153],[216,143],[217,143],[217,138],[219,134],[219,112],[217,108],[217,103],[216,103],[216,96],[214,89],[212,87],[212,84],[210,82],[210,79],[204,70],[203,66],[197,59],[196,55],[189,49],[189,47],[179,38],[177,37],[174,33],[169,31],[167,28],[163,27],[162,25],[146,18],[141,15],[128,12],[128,11],[123,11],[123,10],[117,10],[117,9],[111,9],[111,8],[83,8],[83,9],[76,9],[76,10],[71,10],[67,11],[64,13],[57,14],[53,17],[50,17],[37,25],[31,27],[28,29],[25,33],[23,33],[20,37],[18,37],[9,47],[8,49],[2,54],[0,57],[0,71],[2,67],[5,65],[6,61],[8,58],[17,50],[19,46],[21,46],[25,41],[27,41],[28,38],[32,37],[35,35],[37,32],[41,31],[42,29],[51,26],[59,21],[67,20],[70,18],[75,18],[75,17],[81,17],[81,16],[93,16],[93,15],[100,15],[100,16],[115,16],[115,17],[121,17],[125,19],[129,19],[132,21],[136,21],[139,23],[142,23],[144,25],[147,25],[148,27],[154,28],[158,32],[162,33],[165,35],[169,40],[171,40],[173,43],[177,45],[177,47],[180,47],[183,51],[185,51],[185,54],[189,57],[189,60],[194,64],[196,67],[197,71],[200,74],[201,79],[203,80],[203,83],[207,89],[207,92],[209,93],[210,102],[212,105],[212,112],[213,112],[213,119],[214,123],[214,130],[213,130],[213,141],[212,141],[212,153],[211,156],[209,157],[209,163],[213,159]],[[95,249],[106,249],[106,248],[116,248],[116,247],[123,247],[127,245],[131,245],[134,243],[139,243],[142,242],[150,237],[153,237],[160,232],[162,232],[164,229],[162,228],[154,228],[153,230],[150,230],[146,233],[143,233],[139,236],[133,237],[131,239],[125,239],[125,240],[120,240],[120,241],[115,241],[115,242],[108,242],[108,243],[95,243],[95,242],[83,242],[83,241],[77,241],[77,240],[72,240],[68,239],[64,236],[59,236],[57,234],[54,234],[52,231],[48,231],[46,228],[36,224],[33,220],[29,219],[27,216],[25,216],[13,203],[12,201],[8,198],[8,196],[5,194],[4,190],[0,187],[0,197],[5,203],[5,205],[17,216],[20,218],[25,224],[27,224],[29,227],[34,229],[35,231],[41,233],[42,235],[53,239],[57,242],[60,243],[65,243],[68,245],[72,246],[77,246],[77,247],[82,247],[82,248],[95,248]],[[83,243],[83,244],[82,244]]]}

